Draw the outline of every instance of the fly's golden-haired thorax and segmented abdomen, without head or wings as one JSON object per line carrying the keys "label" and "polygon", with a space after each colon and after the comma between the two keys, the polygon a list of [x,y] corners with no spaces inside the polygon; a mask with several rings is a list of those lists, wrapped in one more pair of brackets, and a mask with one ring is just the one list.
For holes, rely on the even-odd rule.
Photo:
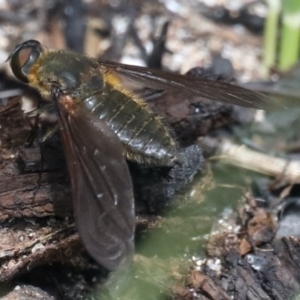
{"label": "fly's golden-haired thorax and segmented abdomen, without head or wings", "polygon": [[172,164],[176,143],[167,127],[142,99],[123,86],[115,72],[101,68],[97,61],[73,52],[45,51],[28,79],[44,97],[50,97],[53,90],[67,96],[68,101],[62,104],[69,113],[81,102],[104,120],[123,142],[128,159]]}

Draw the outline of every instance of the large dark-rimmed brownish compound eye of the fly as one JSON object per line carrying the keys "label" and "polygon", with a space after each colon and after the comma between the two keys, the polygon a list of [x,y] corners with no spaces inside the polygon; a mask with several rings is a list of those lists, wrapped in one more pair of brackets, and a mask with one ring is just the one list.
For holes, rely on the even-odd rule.
{"label": "large dark-rimmed brownish compound eye of the fly", "polygon": [[44,51],[40,42],[35,40],[26,41],[16,47],[7,60],[16,76],[23,83],[28,83],[28,74]]}

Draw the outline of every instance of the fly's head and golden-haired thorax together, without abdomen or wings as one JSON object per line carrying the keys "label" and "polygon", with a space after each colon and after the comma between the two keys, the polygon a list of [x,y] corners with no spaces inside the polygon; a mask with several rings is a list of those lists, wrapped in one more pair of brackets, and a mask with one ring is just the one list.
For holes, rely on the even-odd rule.
{"label": "fly's head and golden-haired thorax together, without abdomen or wings", "polygon": [[16,78],[37,88],[45,98],[55,91],[82,99],[104,85],[94,60],[79,53],[46,50],[35,40],[18,45],[8,60]]}

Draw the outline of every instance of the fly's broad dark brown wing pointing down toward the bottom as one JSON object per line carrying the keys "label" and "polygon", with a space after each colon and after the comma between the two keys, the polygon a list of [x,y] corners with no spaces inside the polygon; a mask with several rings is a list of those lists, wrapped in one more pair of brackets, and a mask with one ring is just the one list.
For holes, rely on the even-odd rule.
{"label": "fly's broad dark brown wing pointing down toward the bottom", "polygon": [[80,107],[67,111],[63,97],[69,96],[56,101],[77,229],[99,264],[111,271],[126,267],[134,251],[135,214],[123,146],[103,121]]}

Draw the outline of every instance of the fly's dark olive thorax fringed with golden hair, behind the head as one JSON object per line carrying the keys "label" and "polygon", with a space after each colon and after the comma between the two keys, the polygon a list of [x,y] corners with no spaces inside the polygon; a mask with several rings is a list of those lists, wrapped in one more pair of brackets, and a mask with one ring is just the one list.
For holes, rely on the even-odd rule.
{"label": "fly's dark olive thorax fringed with golden hair, behind the head", "polygon": [[28,76],[31,86],[44,97],[55,87],[62,94],[86,98],[103,88],[104,81],[98,63],[82,54],[47,51],[41,55]]}

